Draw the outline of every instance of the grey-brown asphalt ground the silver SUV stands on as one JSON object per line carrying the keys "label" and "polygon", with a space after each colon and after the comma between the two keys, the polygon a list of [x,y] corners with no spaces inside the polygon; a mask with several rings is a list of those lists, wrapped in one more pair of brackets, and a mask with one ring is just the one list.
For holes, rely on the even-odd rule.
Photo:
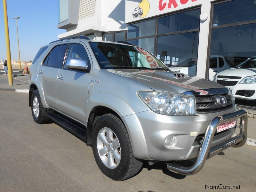
{"label": "grey-brown asphalt ground the silver SUV stands on", "polygon": [[196,175],[185,177],[168,171],[164,163],[145,163],[138,175],[117,182],[100,172],[92,148],[83,141],[56,124],[36,124],[27,93],[0,91],[0,118],[1,192],[198,192],[233,185],[240,188],[237,191],[255,191],[256,148],[252,146],[228,148],[208,159]]}

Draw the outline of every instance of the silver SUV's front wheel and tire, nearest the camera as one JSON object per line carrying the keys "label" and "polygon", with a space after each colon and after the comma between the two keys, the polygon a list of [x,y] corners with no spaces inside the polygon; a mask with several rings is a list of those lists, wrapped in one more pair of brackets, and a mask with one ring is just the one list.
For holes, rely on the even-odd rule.
{"label": "silver SUV's front wheel and tire, nearest the camera", "polygon": [[123,122],[113,114],[100,116],[95,122],[92,150],[100,171],[116,181],[131,178],[143,164],[133,156],[131,141]]}

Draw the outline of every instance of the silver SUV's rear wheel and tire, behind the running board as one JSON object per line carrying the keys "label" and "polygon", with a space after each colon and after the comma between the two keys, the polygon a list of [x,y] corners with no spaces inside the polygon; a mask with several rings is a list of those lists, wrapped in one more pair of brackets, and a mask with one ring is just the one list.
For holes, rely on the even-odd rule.
{"label": "silver SUV's rear wheel and tire, behind the running board", "polygon": [[45,124],[50,121],[50,119],[43,113],[44,107],[41,101],[38,90],[35,90],[31,97],[31,112],[33,119],[38,124]]}

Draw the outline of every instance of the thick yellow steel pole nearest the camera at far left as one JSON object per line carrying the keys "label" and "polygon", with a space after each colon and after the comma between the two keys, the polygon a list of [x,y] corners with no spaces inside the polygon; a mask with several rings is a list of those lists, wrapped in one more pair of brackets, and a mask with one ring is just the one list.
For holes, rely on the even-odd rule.
{"label": "thick yellow steel pole nearest the camera at far left", "polygon": [[12,86],[13,85],[13,82],[12,82],[12,60],[11,60],[11,49],[10,49],[10,37],[9,37],[6,0],[3,0],[3,8],[4,8],[4,29],[5,29],[5,42],[6,42],[6,56],[7,56],[7,66],[8,66],[8,82],[9,82],[9,85]]}

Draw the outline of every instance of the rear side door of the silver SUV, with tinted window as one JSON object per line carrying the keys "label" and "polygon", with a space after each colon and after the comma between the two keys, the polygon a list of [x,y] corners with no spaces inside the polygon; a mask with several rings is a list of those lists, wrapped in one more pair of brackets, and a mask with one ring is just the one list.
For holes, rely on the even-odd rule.
{"label": "rear side door of the silver SUV, with tinted window", "polygon": [[68,44],[52,48],[38,69],[38,80],[41,81],[47,105],[57,110],[57,76],[63,66]]}

